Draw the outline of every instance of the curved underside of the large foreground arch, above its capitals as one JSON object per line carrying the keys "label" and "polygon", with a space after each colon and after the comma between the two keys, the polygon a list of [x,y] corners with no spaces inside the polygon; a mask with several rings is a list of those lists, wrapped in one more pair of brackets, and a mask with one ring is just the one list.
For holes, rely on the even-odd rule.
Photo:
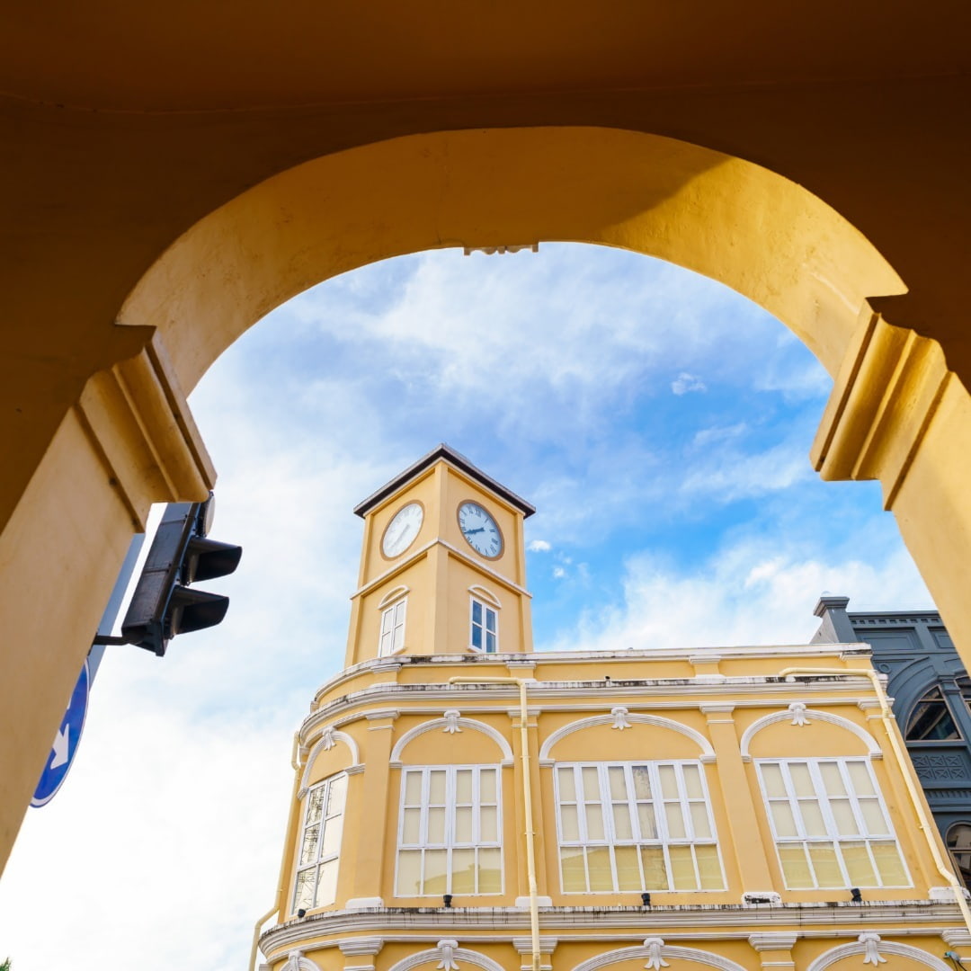
{"label": "curved underside of the large foreground arch, above its capitals", "polygon": [[[376,179],[375,173],[381,173]],[[436,132],[317,158],[202,218],[135,286],[184,388],[257,319],[407,252],[544,241],[647,253],[720,280],[835,374],[867,298],[905,287],[836,211],[752,162],[611,128]]]}

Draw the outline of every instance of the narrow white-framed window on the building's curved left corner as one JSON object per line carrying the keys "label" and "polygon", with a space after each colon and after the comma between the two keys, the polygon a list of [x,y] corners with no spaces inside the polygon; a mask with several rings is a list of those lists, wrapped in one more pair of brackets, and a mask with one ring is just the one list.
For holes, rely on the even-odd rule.
{"label": "narrow white-framed window on the building's curved left corner", "polygon": [[337,867],[347,791],[348,777],[342,773],[307,792],[293,891],[294,912],[326,907],[337,899]]}

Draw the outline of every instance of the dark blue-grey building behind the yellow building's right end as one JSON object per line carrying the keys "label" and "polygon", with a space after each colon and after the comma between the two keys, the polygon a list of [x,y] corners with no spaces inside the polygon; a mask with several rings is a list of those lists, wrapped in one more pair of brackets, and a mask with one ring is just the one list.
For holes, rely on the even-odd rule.
{"label": "dark blue-grey building behind the yellow building's right end", "polygon": [[933,611],[851,613],[824,595],[812,643],[869,644],[934,820],[971,887],[971,679]]}

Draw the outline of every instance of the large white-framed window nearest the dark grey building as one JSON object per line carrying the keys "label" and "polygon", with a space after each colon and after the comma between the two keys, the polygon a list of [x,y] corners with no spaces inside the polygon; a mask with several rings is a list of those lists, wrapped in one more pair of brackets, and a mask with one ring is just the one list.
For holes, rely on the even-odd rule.
{"label": "large white-framed window nearest the dark grey building", "polygon": [[789,889],[911,886],[868,759],[756,765]]}

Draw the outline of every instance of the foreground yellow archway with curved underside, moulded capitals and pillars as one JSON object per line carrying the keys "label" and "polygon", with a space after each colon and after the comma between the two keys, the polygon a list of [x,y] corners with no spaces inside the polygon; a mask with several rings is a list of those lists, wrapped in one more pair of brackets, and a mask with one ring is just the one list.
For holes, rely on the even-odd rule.
{"label": "foreground yellow archway with curved underside, moulded capitals and pillars", "polygon": [[[732,286],[784,321],[836,386],[814,449],[827,478],[879,478],[958,645],[971,509],[971,401],[936,342],[887,325],[904,291],[887,260],[820,198],[752,162],[593,127],[410,135],[321,156],[254,185],[163,252],[117,311],[142,347],[88,378],[0,534],[0,739],[11,797],[0,858],[49,749],[132,528],[152,501],[204,494],[215,472],[184,395],[288,297],[365,263],[442,247],[599,243]],[[137,328],[137,329],[136,329]],[[73,554],[64,555],[65,537]],[[52,576],[51,564],[54,564]],[[60,595],[38,614],[36,591]]]}

